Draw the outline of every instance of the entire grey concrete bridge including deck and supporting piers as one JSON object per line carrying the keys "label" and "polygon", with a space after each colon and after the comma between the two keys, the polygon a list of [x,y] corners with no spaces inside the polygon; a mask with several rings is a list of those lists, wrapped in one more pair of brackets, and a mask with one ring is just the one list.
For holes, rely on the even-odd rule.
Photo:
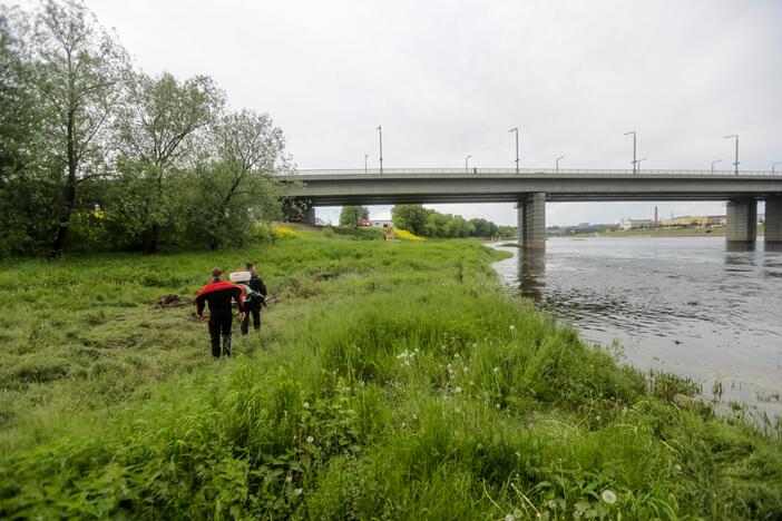
{"label": "entire grey concrete bridge including deck and supporting piers", "polygon": [[287,195],[317,206],[515,203],[519,244],[546,247],[546,201],[725,200],[729,242],[756,238],[765,200],[765,242],[782,243],[782,174],[711,170],[422,169],[300,170]]}

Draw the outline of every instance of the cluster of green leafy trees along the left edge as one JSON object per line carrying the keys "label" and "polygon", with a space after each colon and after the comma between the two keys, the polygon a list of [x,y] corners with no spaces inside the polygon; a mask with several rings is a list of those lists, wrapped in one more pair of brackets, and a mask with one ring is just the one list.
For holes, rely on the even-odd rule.
{"label": "cluster of green leafy trees along the left edge", "polygon": [[224,106],[206,76],[134,72],[81,2],[1,8],[0,257],[245,244],[293,165],[267,115]]}

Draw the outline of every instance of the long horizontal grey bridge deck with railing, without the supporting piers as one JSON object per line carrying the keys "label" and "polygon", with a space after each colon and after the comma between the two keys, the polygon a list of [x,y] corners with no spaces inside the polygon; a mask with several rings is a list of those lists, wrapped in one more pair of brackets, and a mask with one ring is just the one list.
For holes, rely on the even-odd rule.
{"label": "long horizontal grey bridge deck with railing, without the supporting piers", "polygon": [[512,203],[522,194],[545,193],[550,201],[764,199],[782,194],[782,175],[708,170],[521,170],[393,169],[302,170],[290,196],[313,206],[413,203]]}

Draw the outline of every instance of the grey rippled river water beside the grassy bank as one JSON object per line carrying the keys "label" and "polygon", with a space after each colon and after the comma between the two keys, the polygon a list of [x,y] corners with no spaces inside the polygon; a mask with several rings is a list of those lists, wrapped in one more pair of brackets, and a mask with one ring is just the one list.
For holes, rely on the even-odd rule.
{"label": "grey rippled river water beside the grassy bank", "polygon": [[724,237],[551,238],[495,268],[590,343],[622,346],[638,368],[724,390],[782,416],[782,248]]}

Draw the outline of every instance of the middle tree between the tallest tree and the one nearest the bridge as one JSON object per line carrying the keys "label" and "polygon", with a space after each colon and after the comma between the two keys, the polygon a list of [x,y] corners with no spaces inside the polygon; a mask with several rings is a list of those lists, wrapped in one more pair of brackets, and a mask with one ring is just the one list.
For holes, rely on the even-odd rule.
{"label": "middle tree between the tallest tree and the one nearest the bridge", "polygon": [[186,163],[193,169],[194,155],[218,154],[221,145],[197,131],[215,122],[224,94],[211,78],[196,76],[183,82],[168,72],[158,78],[138,73],[130,81],[127,99],[117,120],[124,154],[118,161],[120,185],[126,195],[116,200],[110,220],[133,237],[136,247],[157,252],[163,229],[174,216],[173,177]]}

